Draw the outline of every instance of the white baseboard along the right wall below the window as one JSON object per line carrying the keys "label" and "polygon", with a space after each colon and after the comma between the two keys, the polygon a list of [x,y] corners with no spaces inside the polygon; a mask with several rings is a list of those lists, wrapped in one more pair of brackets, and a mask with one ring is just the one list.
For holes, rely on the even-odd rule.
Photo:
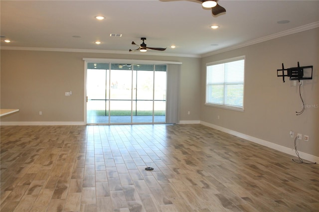
{"label": "white baseboard along the right wall below the window", "polygon": [[[246,134],[243,134],[241,132],[237,132],[237,131],[234,131],[234,130],[231,130],[231,129],[227,129],[227,128],[224,128],[224,127],[221,127],[221,126],[218,126],[218,125],[215,125],[215,124],[207,123],[207,122],[204,122],[204,121],[200,121],[200,124],[208,126],[208,127],[211,127],[211,128],[214,128],[214,129],[217,129],[217,130],[220,130],[222,132],[226,132],[226,133],[231,134],[231,135],[235,135],[237,137],[249,140],[249,141],[254,142],[254,143],[258,143],[258,144],[263,145],[263,146],[267,146],[269,148],[278,150],[280,152],[284,152],[286,154],[296,156],[295,149],[291,149],[291,148],[288,148],[288,147],[285,147],[285,146],[281,146],[281,145],[278,145],[278,144],[275,144],[275,143],[272,143],[272,142],[269,142],[269,141],[266,141],[266,140],[262,140],[260,138],[256,138],[256,137],[253,137],[253,136],[250,136],[250,135],[246,135]],[[317,157],[315,155],[311,155],[311,154],[308,154],[308,153],[305,153],[305,152],[299,152],[299,155],[300,155],[301,158],[303,158],[305,160],[319,163],[319,157]]]}

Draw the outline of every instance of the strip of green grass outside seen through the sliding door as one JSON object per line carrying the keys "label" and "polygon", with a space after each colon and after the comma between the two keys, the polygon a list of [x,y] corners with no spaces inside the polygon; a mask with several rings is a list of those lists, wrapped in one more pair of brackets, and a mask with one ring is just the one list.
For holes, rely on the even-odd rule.
{"label": "strip of green grass outside seen through the sliding door", "polygon": [[[94,115],[109,115],[109,111],[105,110],[90,110],[88,114],[94,114]],[[131,110],[111,110],[110,115],[131,115]],[[133,111],[133,116],[135,115],[143,115],[143,116],[152,116],[152,110],[135,110]],[[165,116],[165,110],[154,110],[155,116]]]}

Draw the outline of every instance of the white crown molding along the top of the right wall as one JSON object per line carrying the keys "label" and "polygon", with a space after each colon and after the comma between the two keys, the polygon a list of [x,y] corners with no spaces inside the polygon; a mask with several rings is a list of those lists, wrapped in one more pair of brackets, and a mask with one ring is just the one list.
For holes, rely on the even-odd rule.
{"label": "white crown molding along the top of the right wall", "polygon": [[293,29],[288,29],[288,30],[285,30],[285,31],[282,31],[282,32],[279,32],[279,33],[275,33],[275,34],[272,34],[272,35],[265,36],[265,37],[257,38],[257,39],[254,39],[254,40],[250,40],[250,41],[238,44],[238,45],[233,45],[233,46],[230,46],[230,47],[226,47],[226,48],[223,48],[223,49],[219,49],[219,50],[216,50],[216,51],[205,53],[205,54],[201,55],[201,58],[208,57],[208,56],[211,56],[211,55],[220,54],[220,53],[231,51],[231,50],[235,50],[235,49],[239,49],[239,48],[250,46],[250,45],[254,45],[254,44],[257,44],[257,43],[262,43],[262,42],[265,42],[265,41],[268,41],[268,40],[276,39],[276,38],[283,37],[283,36],[286,36],[286,35],[295,34],[295,33],[298,33],[298,32],[303,32],[303,31],[314,29],[314,28],[317,28],[317,27],[319,27],[319,21],[313,22],[313,23],[310,23],[310,24],[306,24],[306,25],[303,25],[303,26],[300,26],[300,27],[296,27],[296,28],[293,28]]}

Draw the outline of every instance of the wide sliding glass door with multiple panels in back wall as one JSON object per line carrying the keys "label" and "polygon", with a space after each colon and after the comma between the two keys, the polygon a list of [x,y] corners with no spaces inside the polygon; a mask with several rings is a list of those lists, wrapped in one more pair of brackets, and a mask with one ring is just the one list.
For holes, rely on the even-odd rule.
{"label": "wide sliding glass door with multiple panels in back wall", "polygon": [[164,123],[166,65],[87,64],[87,123]]}

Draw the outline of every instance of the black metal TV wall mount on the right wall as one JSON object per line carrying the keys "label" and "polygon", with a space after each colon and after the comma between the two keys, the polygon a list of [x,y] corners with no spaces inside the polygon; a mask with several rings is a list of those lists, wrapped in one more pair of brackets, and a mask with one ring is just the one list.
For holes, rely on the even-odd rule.
{"label": "black metal TV wall mount on the right wall", "polygon": [[[305,76],[304,74],[306,74]],[[298,62],[298,67],[293,68],[284,68],[284,64],[282,64],[282,69],[277,69],[277,77],[283,77],[283,81],[285,82],[285,77],[289,77],[289,80],[312,80],[313,79],[313,66],[300,66]]]}

